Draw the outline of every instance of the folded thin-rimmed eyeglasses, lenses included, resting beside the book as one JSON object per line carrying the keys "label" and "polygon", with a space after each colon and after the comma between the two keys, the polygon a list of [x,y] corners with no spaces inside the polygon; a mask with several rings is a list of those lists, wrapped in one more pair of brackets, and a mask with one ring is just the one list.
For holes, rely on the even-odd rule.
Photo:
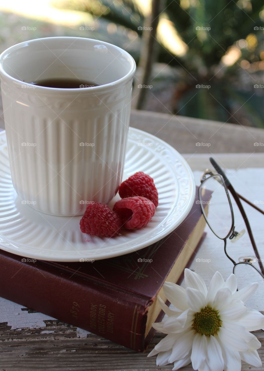
{"label": "folded thin-rimmed eyeglasses, lenses included, resting beside the book", "polygon": [[[224,241],[224,251],[228,259],[233,263],[233,273],[236,275],[239,281],[243,283],[248,283],[248,277],[251,277],[251,281],[255,281],[255,276],[257,275],[257,280],[263,286],[264,289],[264,267],[263,260],[258,252],[253,233],[248,221],[247,214],[245,213],[244,207],[242,206],[241,200],[246,202],[248,205],[264,214],[264,211],[259,209],[255,204],[252,204],[246,198],[238,194],[228,178],[226,177],[223,170],[217,164],[217,162],[211,157],[210,162],[215,168],[216,172],[206,170],[201,177],[201,184],[199,186],[199,203],[205,217],[206,223],[212,230],[212,232],[221,240]],[[210,201],[203,201],[205,199],[204,195],[206,192],[211,191],[212,198]],[[235,229],[235,218],[234,210],[230,198],[230,194],[233,196],[238,209],[242,215],[247,228],[249,239],[254,250],[254,256],[242,256],[236,262],[226,250],[227,240],[230,242],[236,242],[245,233],[245,230],[237,232]],[[207,204],[210,204],[209,210]],[[221,210],[222,209],[222,210]],[[209,211],[209,215],[208,215]],[[225,215],[225,217],[220,217],[220,215]],[[254,265],[258,263],[259,268]],[[262,308],[263,309],[263,308]]]}

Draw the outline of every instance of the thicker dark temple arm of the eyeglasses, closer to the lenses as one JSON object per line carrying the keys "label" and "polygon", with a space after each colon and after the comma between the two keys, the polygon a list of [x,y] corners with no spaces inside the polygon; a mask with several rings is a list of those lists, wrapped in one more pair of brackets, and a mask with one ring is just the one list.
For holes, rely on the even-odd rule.
{"label": "thicker dark temple arm of the eyeglasses, closer to the lenses", "polygon": [[[252,230],[251,230],[251,227],[250,227],[250,224],[249,224],[249,221],[248,221],[248,217],[247,217],[247,214],[245,213],[245,210],[241,204],[241,201],[239,200],[239,196],[238,194],[236,193],[235,189],[233,188],[232,184],[229,182],[228,178],[226,177],[225,173],[223,172],[223,170],[220,168],[220,166],[217,164],[217,162],[212,158],[210,157],[210,162],[211,164],[213,165],[213,167],[215,168],[215,170],[220,174],[222,175],[223,177],[223,180],[225,182],[225,185],[226,185],[226,188],[228,188],[228,190],[230,191],[230,193],[232,194],[232,196],[234,197],[234,200],[241,212],[241,215],[245,221],[245,224],[246,224],[246,227],[247,227],[247,230],[248,230],[248,234],[249,234],[249,238],[250,238],[250,241],[251,241],[251,244],[252,244],[252,247],[253,247],[253,250],[254,250],[254,253],[258,259],[258,264],[260,266],[260,270],[261,272],[264,274],[264,267],[263,267],[263,264],[261,262],[261,258],[260,258],[260,254],[258,253],[258,249],[257,249],[257,246],[256,246],[256,243],[255,243],[255,240],[254,240],[254,237],[253,237],[253,233],[252,233]],[[243,197],[244,198],[244,197]],[[242,198],[242,199],[243,199]],[[252,206],[252,205],[251,205]]]}

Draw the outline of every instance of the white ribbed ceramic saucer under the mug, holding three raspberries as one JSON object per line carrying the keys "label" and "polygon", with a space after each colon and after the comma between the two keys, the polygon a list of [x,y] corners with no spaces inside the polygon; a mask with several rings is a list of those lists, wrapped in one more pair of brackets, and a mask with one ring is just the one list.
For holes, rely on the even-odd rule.
{"label": "white ribbed ceramic saucer under the mug, holding three raspberries", "polygon": [[[81,217],[40,213],[17,196],[10,176],[6,134],[0,133],[0,249],[32,259],[78,262],[106,259],[142,249],[172,232],[194,202],[195,184],[189,165],[173,147],[144,131],[129,128],[123,179],[137,171],[154,178],[159,204],[141,230],[100,238],[80,232]],[[110,202],[112,207],[120,197]],[[67,200],[66,200],[67,201]]]}

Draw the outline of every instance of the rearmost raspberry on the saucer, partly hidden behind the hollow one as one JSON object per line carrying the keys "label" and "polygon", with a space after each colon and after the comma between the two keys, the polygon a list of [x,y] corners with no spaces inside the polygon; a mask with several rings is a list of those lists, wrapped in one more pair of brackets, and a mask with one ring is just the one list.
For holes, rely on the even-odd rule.
{"label": "rearmost raspberry on the saucer, partly hidden behind the hollow one", "polygon": [[121,198],[132,196],[146,197],[154,203],[155,207],[158,206],[158,191],[154,180],[143,173],[143,171],[131,175],[131,177],[121,183],[119,196]]}

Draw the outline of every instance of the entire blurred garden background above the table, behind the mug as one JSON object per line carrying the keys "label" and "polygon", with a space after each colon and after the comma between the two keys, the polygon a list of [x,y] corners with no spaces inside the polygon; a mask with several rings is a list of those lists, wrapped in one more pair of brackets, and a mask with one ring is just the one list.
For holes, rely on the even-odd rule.
{"label": "entire blurred garden background above the table, behind the mug", "polygon": [[1,0],[0,51],[48,36],[137,63],[133,108],[264,128],[263,0]]}

